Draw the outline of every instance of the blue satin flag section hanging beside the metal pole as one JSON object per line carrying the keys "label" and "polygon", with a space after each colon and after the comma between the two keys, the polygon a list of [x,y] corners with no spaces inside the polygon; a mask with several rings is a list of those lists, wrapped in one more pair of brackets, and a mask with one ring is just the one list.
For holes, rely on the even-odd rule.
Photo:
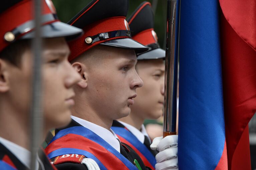
{"label": "blue satin flag section hanging beside the metal pole", "polygon": [[180,18],[179,169],[214,170],[227,156],[219,2],[181,1]]}

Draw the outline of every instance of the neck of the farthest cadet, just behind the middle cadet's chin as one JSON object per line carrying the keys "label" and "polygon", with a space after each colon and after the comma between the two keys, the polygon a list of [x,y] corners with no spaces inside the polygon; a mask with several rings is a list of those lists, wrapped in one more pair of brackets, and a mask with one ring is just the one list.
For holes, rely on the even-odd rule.
{"label": "neck of the farthest cadet, just behind the middle cadet's chin", "polygon": [[139,115],[140,115],[139,113],[135,113],[131,110],[131,113],[129,114],[129,116],[120,118],[118,120],[128,123],[134,126],[135,128],[137,128],[138,130],[141,130],[141,126],[144,122],[144,118],[140,117]]}

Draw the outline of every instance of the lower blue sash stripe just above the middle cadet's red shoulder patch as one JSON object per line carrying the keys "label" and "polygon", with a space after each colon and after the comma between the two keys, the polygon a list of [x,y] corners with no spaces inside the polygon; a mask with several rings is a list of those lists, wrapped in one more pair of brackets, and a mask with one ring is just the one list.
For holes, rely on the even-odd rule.
{"label": "lower blue sash stripe just above the middle cadet's red shoulder patch", "polygon": [[99,168],[101,170],[107,170],[107,168],[98,160],[98,158],[96,158],[93,154],[91,154],[88,151],[85,150],[81,150],[81,149],[74,149],[74,148],[60,148],[57,150],[52,151],[50,154],[48,154],[48,157],[54,158],[57,157],[59,155],[64,155],[64,154],[78,154],[78,155],[84,155],[86,158],[91,158],[94,161],[97,162]]}

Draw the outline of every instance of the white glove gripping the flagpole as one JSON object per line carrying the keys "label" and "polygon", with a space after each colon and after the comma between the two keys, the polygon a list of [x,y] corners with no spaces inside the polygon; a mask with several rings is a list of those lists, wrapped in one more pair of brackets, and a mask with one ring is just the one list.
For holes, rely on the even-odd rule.
{"label": "white glove gripping the flagpole", "polygon": [[156,155],[156,170],[178,170],[178,135],[156,137],[150,147],[159,151]]}

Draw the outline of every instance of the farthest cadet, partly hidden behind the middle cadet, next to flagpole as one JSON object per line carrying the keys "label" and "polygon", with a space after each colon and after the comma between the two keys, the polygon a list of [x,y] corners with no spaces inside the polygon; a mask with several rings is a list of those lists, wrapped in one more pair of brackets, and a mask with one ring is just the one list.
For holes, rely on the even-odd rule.
{"label": "farthest cadet, partly hidden behind the middle cadet, next to flagpole", "polygon": [[[165,51],[159,47],[157,35],[153,29],[154,14],[149,2],[143,2],[128,19],[132,37],[139,43],[148,46],[149,51],[138,55],[136,70],[143,80],[143,87],[137,90],[135,103],[131,106],[131,113],[118,121],[114,120],[111,129],[116,133],[121,142],[131,146],[142,158],[144,164],[151,169],[159,162],[155,159],[156,150],[150,148],[151,140],[146,132],[143,122],[145,119],[157,119],[163,115],[164,104],[164,75]],[[173,143],[177,143],[177,136],[168,136]],[[153,144],[154,145],[154,144]],[[177,156],[177,147],[172,148]],[[173,152],[174,152],[173,151]],[[177,158],[175,158],[177,161]],[[177,168],[177,163],[169,164],[169,168]],[[160,161],[161,162],[161,161]],[[156,167],[163,167],[158,163]],[[169,169],[168,168],[168,169]]]}

